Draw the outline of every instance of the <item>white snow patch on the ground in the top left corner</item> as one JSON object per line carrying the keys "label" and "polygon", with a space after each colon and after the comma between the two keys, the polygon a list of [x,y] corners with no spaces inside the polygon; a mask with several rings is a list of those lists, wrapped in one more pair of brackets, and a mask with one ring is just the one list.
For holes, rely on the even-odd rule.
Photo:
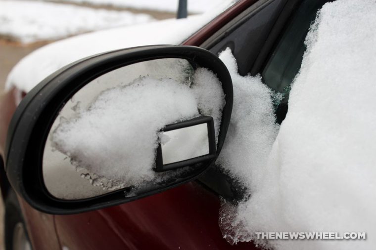
{"label": "white snow patch on the ground in the top left corner", "polygon": [[129,11],[39,1],[0,1],[0,36],[24,43],[151,20],[149,15]]}

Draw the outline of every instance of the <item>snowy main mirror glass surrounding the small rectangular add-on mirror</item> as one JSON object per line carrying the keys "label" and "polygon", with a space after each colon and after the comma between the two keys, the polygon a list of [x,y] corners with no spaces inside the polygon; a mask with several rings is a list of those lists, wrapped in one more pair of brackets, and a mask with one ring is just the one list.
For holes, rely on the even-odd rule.
{"label": "snowy main mirror glass surrounding the small rectangular add-on mirror", "polygon": [[[84,87],[72,98],[73,102],[68,102],[50,131],[52,148],[45,149],[44,176],[53,195],[65,199],[88,198],[165,179],[166,174],[152,170],[160,129],[200,115],[212,116],[215,126],[219,127],[225,95],[218,78],[204,68],[190,70],[187,61],[178,63],[177,60],[180,59],[163,59],[159,66],[145,62],[141,66],[138,64],[141,68],[131,65],[114,71],[115,74],[108,73],[89,83],[89,88]],[[175,74],[159,78],[160,73],[153,68],[160,69],[164,65],[167,69],[172,62],[175,62]],[[184,68],[187,65],[190,68]],[[130,70],[125,70],[129,67]],[[148,70],[140,76],[140,69]],[[136,80],[132,81],[126,74],[129,71],[137,72],[134,74],[138,75]],[[151,76],[147,76],[149,74]],[[182,76],[186,77],[182,79]],[[114,79],[118,84],[95,95],[98,86],[105,86],[109,79],[113,80],[110,84],[115,83]],[[120,80],[123,83],[119,83],[119,79],[123,79]],[[210,91],[210,87],[212,99],[203,105],[203,97],[207,96],[205,91]],[[68,110],[71,114],[67,116]],[[201,141],[205,143],[205,140]],[[55,157],[56,152],[68,156],[71,163],[62,163],[58,155]],[[58,159],[57,163],[54,158]],[[74,169],[93,186],[102,189],[96,189],[95,193],[93,188],[87,187],[84,190],[88,192],[81,190],[77,194],[76,187],[81,185],[77,184],[77,178],[56,184],[54,180],[61,178],[62,171]]]}

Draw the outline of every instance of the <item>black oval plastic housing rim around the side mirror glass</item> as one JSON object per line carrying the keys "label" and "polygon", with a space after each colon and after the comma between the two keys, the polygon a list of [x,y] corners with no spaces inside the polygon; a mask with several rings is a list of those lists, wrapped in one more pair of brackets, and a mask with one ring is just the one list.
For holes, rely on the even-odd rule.
{"label": "black oval plastic housing rim around the side mirror glass", "polygon": [[225,64],[213,53],[195,46],[152,45],[109,51],[76,61],[48,76],[18,105],[9,124],[5,146],[6,174],[13,189],[30,206],[51,214],[73,214],[131,202],[197,178],[215,158],[192,166],[191,172],[169,182],[136,190],[129,188],[99,196],[63,200],[51,195],[43,178],[43,154],[48,133],[65,103],[86,84],[118,68],[163,58],[186,59],[194,69],[204,67],[222,83],[226,104],[222,111],[216,155],[226,138],[233,106],[233,85]]}

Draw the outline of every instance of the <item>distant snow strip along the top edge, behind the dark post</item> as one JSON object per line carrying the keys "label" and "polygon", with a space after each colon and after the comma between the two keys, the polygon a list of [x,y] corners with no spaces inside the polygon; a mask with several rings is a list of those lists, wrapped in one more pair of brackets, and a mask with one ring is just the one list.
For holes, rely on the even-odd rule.
{"label": "distant snow strip along the top edge, behind the dark post", "polygon": [[[59,1],[59,0],[52,0]],[[135,9],[176,12],[179,0],[67,0],[68,2],[88,3],[92,5],[110,5]],[[188,0],[188,12],[203,13],[221,4],[224,0]]]}

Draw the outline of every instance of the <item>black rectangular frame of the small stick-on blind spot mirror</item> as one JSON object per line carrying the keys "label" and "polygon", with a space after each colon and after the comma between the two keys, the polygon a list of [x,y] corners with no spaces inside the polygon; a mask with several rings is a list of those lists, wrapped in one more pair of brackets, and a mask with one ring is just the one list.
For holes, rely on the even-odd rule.
{"label": "black rectangular frame of the small stick-on blind spot mirror", "polygon": [[208,129],[209,154],[164,165],[162,145],[159,142],[154,170],[156,172],[163,172],[163,171],[172,170],[172,169],[176,169],[180,167],[191,166],[197,163],[207,162],[215,158],[216,157],[216,145],[215,145],[214,121],[213,121],[213,118],[210,116],[200,116],[200,117],[196,117],[196,118],[183,121],[180,123],[170,124],[170,125],[165,126],[160,132],[167,132],[167,131],[171,131],[171,130],[175,130],[179,128],[185,128],[185,127],[190,127],[190,126],[195,126],[195,125],[200,125],[200,124],[205,124],[205,123]]}

